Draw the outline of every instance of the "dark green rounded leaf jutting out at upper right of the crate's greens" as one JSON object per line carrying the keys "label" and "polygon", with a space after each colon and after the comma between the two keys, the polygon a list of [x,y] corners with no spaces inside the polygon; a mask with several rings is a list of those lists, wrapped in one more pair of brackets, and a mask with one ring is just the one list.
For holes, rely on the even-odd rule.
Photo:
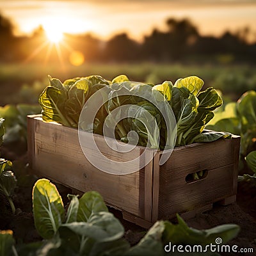
{"label": "dark green rounded leaf jutting out at upper right of the crate's greens", "polygon": [[214,110],[223,104],[220,95],[212,87],[207,88],[204,92],[198,93],[197,98],[199,100],[198,110]]}

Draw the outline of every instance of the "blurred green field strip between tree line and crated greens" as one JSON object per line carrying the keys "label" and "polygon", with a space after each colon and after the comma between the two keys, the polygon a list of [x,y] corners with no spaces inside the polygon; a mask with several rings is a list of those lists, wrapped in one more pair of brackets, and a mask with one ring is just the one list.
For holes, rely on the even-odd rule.
{"label": "blurred green field strip between tree line and crated greens", "polygon": [[256,87],[256,74],[252,65],[223,64],[163,64],[163,63],[92,63],[79,67],[60,64],[1,63],[0,64],[0,106],[12,103],[37,103],[38,96],[48,85],[47,75],[65,81],[70,77],[100,75],[113,79],[126,74],[131,81],[142,83],[163,83],[186,76],[198,76],[205,81],[205,88],[214,86],[223,93],[224,103],[237,100],[242,93]]}

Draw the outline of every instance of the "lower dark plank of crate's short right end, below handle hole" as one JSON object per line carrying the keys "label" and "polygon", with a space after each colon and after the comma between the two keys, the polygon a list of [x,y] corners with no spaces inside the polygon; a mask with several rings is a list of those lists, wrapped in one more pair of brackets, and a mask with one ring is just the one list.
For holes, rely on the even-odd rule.
{"label": "lower dark plank of crate's short right end, below handle hole", "polygon": [[[173,173],[174,175],[177,173]],[[183,175],[182,182],[160,179],[160,184],[164,183],[165,186],[160,186],[159,218],[191,211],[236,194],[233,186],[234,164],[210,170],[205,179],[196,182],[187,184],[185,177]]]}

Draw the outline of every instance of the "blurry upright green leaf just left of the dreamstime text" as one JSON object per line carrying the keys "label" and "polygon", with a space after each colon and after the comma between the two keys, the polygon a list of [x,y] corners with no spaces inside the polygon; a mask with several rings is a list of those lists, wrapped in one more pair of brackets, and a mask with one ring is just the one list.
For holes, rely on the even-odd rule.
{"label": "blurry upright green leaf just left of the dreamstime text", "polygon": [[161,256],[164,255],[162,236],[164,232],[164,221],[157,221],[151,227],[145,237],[133,246],[128,252],[124,253],[125,256]]}

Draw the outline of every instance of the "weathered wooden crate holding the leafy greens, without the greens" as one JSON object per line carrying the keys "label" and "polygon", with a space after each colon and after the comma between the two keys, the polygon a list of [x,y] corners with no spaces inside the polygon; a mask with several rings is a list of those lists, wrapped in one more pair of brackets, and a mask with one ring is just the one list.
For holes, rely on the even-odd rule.
{"label": "weathered wooden crate holding the leafy greens, without the greens", "polygon": [[[125,158],[115,151],[110,156],[103,136],[93,136],[100,151],[116,161],[140,157],[144,150],[135,147]],[[98,170],[86,159],[77,129],[45,123],[40,115],[28,116],[29,164],[37,175],[79,191],[99,191],[106,204],[141,227],[172,218],[177,212],[186,218],[211,209],[214,202],[236,201],[239,143],[239,136],[232,136],[231,140],[178,147],[162,166],[159,151],[138,172],[112,175]],[[150,154],[153,153],[148,152],[146,157]],[[186,182],[189,173],[200,170],[206,170],[204,179]]]}

